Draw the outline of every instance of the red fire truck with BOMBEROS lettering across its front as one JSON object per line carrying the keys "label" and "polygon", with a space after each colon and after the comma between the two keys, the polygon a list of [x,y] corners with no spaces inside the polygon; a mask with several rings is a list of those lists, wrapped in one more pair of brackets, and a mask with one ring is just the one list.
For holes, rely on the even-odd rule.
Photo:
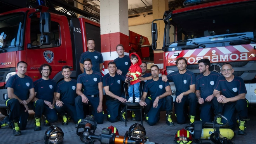
{"label": "red fire truck with BOMBEROS lettering across its front", "polygon": [[[233,74],[246,83],[249,104],[256,104],[256,1],[209,1],[186,0],[185,8],[166,11],[164,19],[157,19],[165,23],[162,74],[178,70],[175,64],[178,57],[188,60],[186,69],[196,76],[200,59],[209,59],[210,71],[218,73],[225,62],[230,62]],[[156,49],[156,31],[157,24],[152,23],[153,49]],[[171,85],[175,96],[175,86]]]}

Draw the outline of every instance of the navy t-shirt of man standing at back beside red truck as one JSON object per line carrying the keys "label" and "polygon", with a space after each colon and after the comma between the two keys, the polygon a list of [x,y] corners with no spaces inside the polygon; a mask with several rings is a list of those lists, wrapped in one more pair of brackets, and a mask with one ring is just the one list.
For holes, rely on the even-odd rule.
{"label": "navy t-shirt of man standing at back beside red truck", "polygon": [[[103,56],[100,52],[98,51],[94,51],[94,52],[89,52],[86,51],[84,53],[81,54],[80,56],[80,63],[84,64],[84,60],[85,59],[91,59],[92,60],[92,70],[93,71],[99,71],[99,64],[103,63]],[[84,68],[84,72],[85,72],[85,68]]]}

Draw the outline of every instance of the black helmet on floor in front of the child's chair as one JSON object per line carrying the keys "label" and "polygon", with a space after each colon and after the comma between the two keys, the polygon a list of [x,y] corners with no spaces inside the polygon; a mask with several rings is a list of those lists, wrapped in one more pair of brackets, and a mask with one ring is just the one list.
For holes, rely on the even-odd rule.
{"label": "black helmet on floor in front of the child's chair", "polygon": [[146,130],[143,125],[139,123],[134,123],[129,128],[129,137],[131,137],[131,139],[142,142],[145,139],[145,136]]}

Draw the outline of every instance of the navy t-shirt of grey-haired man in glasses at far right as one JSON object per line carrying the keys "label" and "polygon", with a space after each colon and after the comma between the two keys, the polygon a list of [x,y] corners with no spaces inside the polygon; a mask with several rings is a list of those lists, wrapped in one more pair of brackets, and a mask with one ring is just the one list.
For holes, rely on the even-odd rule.
{"label": "navy t-shirt of grey-haired man in glasses at far right", "polygon": [[214,89],[221,91],[221,94],[226,98],[247,93],[244,80],[238,76],[235,76],[232,82],[228,82],[223,75],[219,76],[216,84],[214,85]]}

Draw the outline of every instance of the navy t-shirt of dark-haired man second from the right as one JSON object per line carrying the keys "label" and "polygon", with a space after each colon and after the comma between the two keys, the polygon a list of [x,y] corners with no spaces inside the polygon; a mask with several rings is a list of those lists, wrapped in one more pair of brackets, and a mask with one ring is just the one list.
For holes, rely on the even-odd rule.
{"label": "navy t-shirt of dark-haired man second from the right", "polygon": [[213,94],[214,84],[217,82],[219,73],[212,72],[204,76],[203,73],[200,73],[195,79],[197,81],[195,85],[196,90],[200,90],[201,97],[205,100],[206,97]]}

